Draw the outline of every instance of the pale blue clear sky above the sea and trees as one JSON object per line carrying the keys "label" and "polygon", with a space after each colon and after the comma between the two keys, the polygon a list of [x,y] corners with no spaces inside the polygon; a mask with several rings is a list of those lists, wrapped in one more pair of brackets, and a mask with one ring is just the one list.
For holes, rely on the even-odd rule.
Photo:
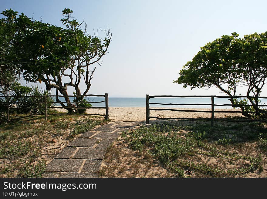
{"label": "pale blue clear sky above the sea and trees", "polygon": [[[64,27],[61,11],[71,8],[89,33],[109,27],[109,53],[96,65],[89,92],[111,97],[225,95],[215,87],[184,89],[173,80],[207,42],[232,32],[266,32],[266,7],[267,1],[259,0],[0,0],[1,11],[12,8],[53,25]],[[267,88],[261,95],[267,96]]]}

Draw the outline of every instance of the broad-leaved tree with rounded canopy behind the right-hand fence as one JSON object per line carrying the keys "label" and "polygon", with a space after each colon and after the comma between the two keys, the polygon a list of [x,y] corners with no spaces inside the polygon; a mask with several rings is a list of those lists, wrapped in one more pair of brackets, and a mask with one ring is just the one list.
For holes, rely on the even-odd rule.
{"label": "broad-leaved tree with rounded canopy behind the right-hand fence", "polygon": [[[267,77],[267,32],[254,33],[238,38],[236,32],[231,36],[207,43],[180,70],[175,83],[193,88],[218,87],[229,96],[237,96],[239,87],[247,88],[247,96],[259,97]],[[257,115],[266,111],[259,108],[256,98],[248,98]],[[230,99],[232,106],[248,110],[248,101]],[[251,116],[248,113],[242,113]]]}

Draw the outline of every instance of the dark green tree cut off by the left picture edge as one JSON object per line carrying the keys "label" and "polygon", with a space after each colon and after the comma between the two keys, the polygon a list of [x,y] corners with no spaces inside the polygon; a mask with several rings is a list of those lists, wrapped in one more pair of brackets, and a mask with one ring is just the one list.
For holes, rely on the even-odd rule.
{"label": "dark green tree cut off by the left picture edge", "polygon": [[[29,88],[19,83],[20,70],[17,66],[18,56],[14,45],[17,23],[14,10],[6,10],[0,19],[0,122],[5,121],[7,104],[11,108],[15,102],[12,96],[25,93]],[[12,107],[13,108],[13,107]]]}

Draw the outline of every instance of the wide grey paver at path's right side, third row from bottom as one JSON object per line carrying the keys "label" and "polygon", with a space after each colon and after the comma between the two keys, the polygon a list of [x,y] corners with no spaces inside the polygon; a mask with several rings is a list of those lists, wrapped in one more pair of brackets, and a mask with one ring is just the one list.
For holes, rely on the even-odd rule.
{"label": "wide grey paver at path's right side, third row from bottom", "polygon": [[98,159],[103,160],[106,150],[103,148],[83,147],[75,153],[73,158],[76,159]]}

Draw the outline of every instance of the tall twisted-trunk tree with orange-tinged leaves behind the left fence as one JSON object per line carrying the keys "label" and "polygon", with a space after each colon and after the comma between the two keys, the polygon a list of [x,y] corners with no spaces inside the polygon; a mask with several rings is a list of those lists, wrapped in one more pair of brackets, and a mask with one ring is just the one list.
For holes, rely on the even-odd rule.
{"label": "tall twisted-trunk tree with orange-tinged leaves behind the left fence", "polygon": [[[56,89],[56,96],[61,93],[67,105],[56,97],[63,107],[73,104],[68,97],[68,87],[76,91],[76,102],[82,101],[91,86],[93,64],[101,65],[101,58],[106,55],[111,41],[110,30],[104,30],[105,39],[92,36],[81,29],[83,23],[72,19],[73,11],[65,8],[62,11],[62,23],[66,28],[49,23],[42,23],[28,18],[23,13],[16,19],[17,29],[14,37],[15,54],[19,56],[17,66],[23,72],[26,81],[44,82],[47,90]],[[4,14],[5,15],[5,14]],[[17,14],[13,12],[13,15]],[[10,16],[5,15],[8,20]],[[86,89],[81,92],[80,85],[85,83]],[[72,108],[66,108],[73,113]],[[77,111],[77,110],[76,110]],[[77,111],[78,112],[78,111]]]}

